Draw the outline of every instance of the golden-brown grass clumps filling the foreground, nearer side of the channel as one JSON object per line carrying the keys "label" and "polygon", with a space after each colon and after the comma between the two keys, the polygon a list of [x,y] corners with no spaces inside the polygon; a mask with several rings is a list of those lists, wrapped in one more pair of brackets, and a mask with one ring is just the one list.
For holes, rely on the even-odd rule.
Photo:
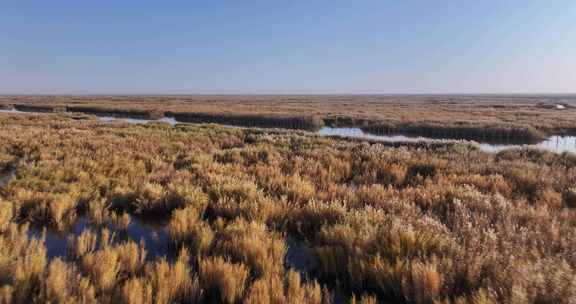
{"label": "golden-brown grass clumps filling the foreground, nearer side of the channel", "polygon": [[[0,164],[18,160],[0,196],[0,302],[576,298],[571,154],[60,115],[0,125]],[[145,215],[170,218],[170,257],[109,230]],[[59,258],[29,233],[80,217],[91,228]],[[287,259],[294,242],[309,267]]]}

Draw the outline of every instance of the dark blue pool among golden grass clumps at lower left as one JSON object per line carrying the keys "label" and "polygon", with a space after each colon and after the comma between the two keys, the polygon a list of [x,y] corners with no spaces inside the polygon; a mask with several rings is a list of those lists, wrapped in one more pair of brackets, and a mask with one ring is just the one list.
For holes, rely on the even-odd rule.
{"label": "dark blue pool among golden grass clumps at lower left", "polygon": [[[146,259],[153,260],[156,257],[166,256],[170,259],[169,236],[166,223],[149,223],[132,216],[130,225],[126,230],[108,224],[104,227],[114,233],[114,242],[132,240],[137,244],[144,242],[146,248]],[[87,218],[78,219],[74,227],[69,231],[61,233],[46,230],[46,255],[49,259],[55,257],[65,257],[67,255],[68,237],[79,236],[85,229],[91,229],[94,233],[100,234],[101,227],[92,224]],[[31,227],[29,234],[31,237],[41,237],[43,229]]]}

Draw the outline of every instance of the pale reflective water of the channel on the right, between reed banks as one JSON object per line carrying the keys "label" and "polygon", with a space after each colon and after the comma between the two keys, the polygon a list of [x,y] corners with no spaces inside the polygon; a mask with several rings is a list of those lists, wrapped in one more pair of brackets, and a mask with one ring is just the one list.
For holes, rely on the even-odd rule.
{"label": "pale reflective water of the channel on the right, between reed banks", "polygon": [[[404,135],[375,135],[362,131],[360,128],[331,128],[324,127],[318,131],[321,136],[341,136],[350,138],[361,138],[367,140],[383,142],[434,142],[446,141],[446,139],[433,139],[428,137],[408,137]],[[576,153],[576,136],[551,136],[548,139],[533,145],[519,144],[487,144],[479,143],[480,150],[496,153],[505,149],[531,147],[552,151],[555,153],[572,152]]]}

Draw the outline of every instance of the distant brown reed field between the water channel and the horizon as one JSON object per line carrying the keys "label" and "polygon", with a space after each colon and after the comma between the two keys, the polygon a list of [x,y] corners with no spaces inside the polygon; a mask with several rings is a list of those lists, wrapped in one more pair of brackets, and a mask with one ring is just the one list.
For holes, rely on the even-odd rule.
{"label": "distant brown reed field between the water channel and the horizon", "polygon": [[[565,109],[555,109],[562,104]],[[574,98],[566,96],[18,96],[0,107],[67,110],[182,122],[314,129],[324,124],[379,133],[408,132],[477,140],[574,134]]]}

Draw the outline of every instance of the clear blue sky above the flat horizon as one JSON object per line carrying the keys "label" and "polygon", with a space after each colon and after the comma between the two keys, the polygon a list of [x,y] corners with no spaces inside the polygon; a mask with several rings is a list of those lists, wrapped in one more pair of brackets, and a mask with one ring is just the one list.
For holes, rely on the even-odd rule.
{"label": "clear blue sky above the flat horizon", "polygon": [[573,92],[572,0],[0,0],[0,94]]}

